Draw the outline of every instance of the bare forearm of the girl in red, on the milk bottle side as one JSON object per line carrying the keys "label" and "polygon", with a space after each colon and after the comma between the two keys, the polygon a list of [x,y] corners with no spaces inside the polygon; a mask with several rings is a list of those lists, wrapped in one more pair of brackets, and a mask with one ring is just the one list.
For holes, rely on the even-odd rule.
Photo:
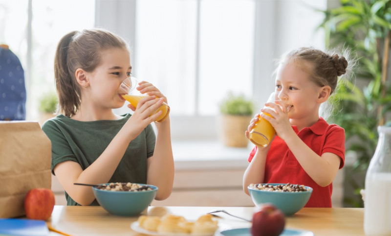
{"label": "bare forearm of the girl in red, on the milk bottle side", "polygon": [[318,185],[326,187],[331,184],[338,171],[335,165],[316,154],[296,134],[288,136],[285,142],[304,171]]}

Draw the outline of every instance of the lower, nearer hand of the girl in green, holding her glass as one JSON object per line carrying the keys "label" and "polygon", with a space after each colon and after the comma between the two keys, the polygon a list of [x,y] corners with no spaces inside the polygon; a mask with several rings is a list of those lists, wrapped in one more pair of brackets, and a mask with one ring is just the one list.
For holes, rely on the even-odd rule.
{"label": "lower, nearer hand of the girl in green, holding her glass", "polygon": [[164,98],[155,98],[156,97],[154,95],[144,97],[138,102],[136,108],[134,108],[131,104],[128,105],[128,107],[134,111],[133,115],[127,121],[127,123],[131,124],[129,126],[132,140],[135,139],[145,129],[145,127],[162,114],[162,112],[159,111],[150,117],[150,114],[152,114],[153,111],[156,111],[156,109],[159,108],[164,101]]}

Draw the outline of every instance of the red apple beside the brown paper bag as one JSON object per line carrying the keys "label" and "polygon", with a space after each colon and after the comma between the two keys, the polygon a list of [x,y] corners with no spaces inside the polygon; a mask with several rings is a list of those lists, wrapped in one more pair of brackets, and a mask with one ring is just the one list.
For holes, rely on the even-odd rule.
{"label": "red apple beside the brown paper bag", "polygon": [[30,189],[24,197],[24,211],[29,219],[47,220],[54,208],[54,193],[51,189]]}

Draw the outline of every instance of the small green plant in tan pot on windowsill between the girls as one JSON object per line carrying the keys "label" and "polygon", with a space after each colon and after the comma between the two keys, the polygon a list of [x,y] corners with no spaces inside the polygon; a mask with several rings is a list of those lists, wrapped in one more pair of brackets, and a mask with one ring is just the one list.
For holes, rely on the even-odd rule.
{"label": "small green plant in tan pot on windowsill between the girls", "polygon": [[220,104],[221,116],[218,118],[218,136],[221,142],[231,147],[246,147],[248,144],[244,132],[252,118],[254,104],[244,95],[232,92]]}

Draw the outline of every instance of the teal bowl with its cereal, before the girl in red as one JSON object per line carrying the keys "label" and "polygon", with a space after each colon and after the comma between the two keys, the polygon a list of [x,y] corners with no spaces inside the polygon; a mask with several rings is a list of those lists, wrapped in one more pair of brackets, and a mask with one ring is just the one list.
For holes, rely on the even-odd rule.
{"label": "teal bowl with its cereal, before the girl in red", "polygon": [[260,207],[272,203],[285,215],[293,215],[308,202],[312,188],[292,184],[251,184],[247,187],[251,199]]}

